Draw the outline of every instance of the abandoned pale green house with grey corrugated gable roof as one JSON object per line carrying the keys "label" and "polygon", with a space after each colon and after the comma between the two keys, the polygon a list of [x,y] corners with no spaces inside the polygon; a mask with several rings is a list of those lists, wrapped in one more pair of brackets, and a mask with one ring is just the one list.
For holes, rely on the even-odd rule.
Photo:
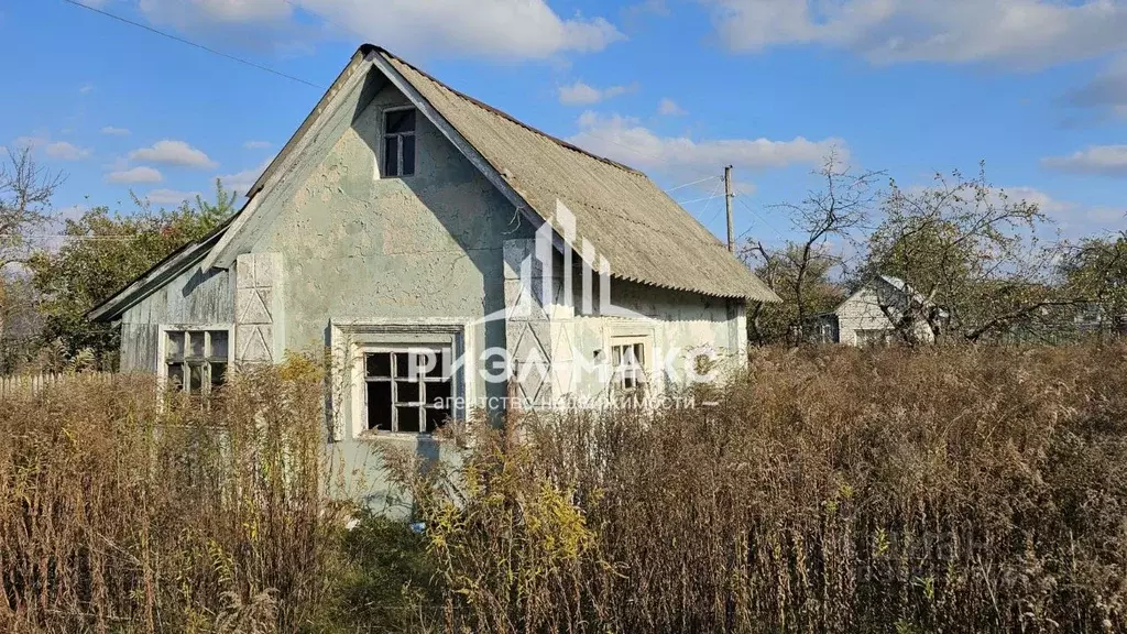
{"label": "abandoned pale green house with grey corrugated gable roof", "polygon": [[[357,455],[514,391],[549,406],[659,391],[671,355],[740,362],[746,303],[778,301],[641,173],[371,45],[248,199],[90,318],[121,325],[123,371],[190,391],[331,350],[328,437]],[[513,378],[490,380],[500,358]]]}

